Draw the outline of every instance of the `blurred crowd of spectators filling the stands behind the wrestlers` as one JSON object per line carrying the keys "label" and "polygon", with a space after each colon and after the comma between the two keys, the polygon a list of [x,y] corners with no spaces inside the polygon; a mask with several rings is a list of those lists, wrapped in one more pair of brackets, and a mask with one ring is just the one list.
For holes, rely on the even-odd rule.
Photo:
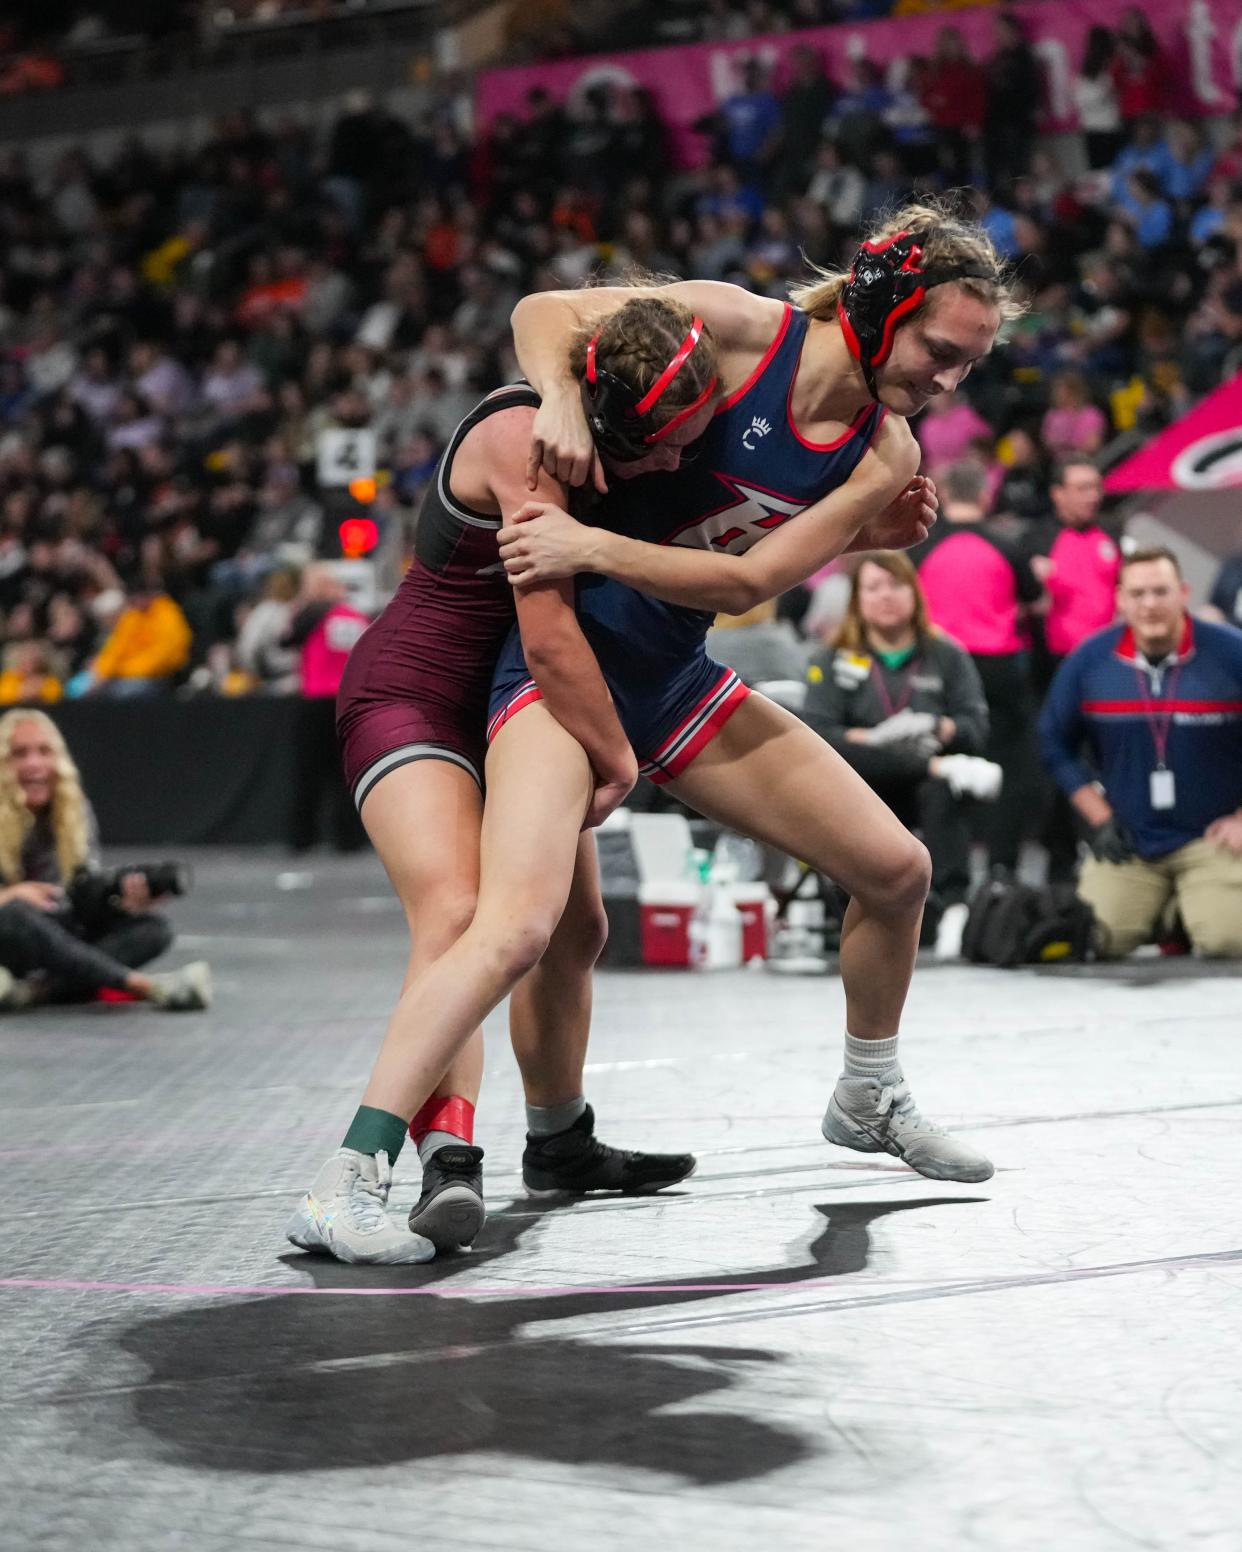
{"label": "blurred crowd of spectators filling the stands behind the wrestlers", "polygon": [[0,157],[0,700],[290,688],[301,574],[340,554],[321,431],[377,435],[391,580],[452,427],[515,374],[523,292],[641,267],[784,295],[911,191],[958,188],[1028,303],[921,419],[925,467],[975,466],[983,511],[1037,534],[1056,459],[1158,428],[1236,360],[1242,116],[1171,116],[1135,9],[1093,29],[1074,169],[1032,133],[1020,25],[994,29],[973,59],[945,25],[900,85],[753,59],[675,175],[657,104],[613,84],[533,90],[477,137],[453,87],[418,121],[354,99],[323,140],[239,113],[188,151]]}

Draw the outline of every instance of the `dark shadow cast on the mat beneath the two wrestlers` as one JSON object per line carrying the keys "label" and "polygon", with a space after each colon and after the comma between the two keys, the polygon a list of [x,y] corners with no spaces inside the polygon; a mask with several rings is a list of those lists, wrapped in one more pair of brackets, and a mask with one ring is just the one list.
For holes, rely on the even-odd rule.
{"label": "dark shadow cast on the mat beneath the two wrestlers", "polygon": [[[823,1439],[767,1419],[689,1403],[728,1391],[745,1366],[776,1364],[761,1347],[643,1344],[546,1330],[551,1322],[641,1316],[720,1302],[742,1284],[782,1287],[866,1266],[871,1225],[896,1212],[983,1198],[848,1203],[795,1266],[697,1277],[658,1290],[491,1297],[283,1296],[179,1308],[107,1332],[146,1366],[120,1405],[155,1453],[216,1471],[324,1471],[489,1451],[533,1462],[672,1471],[689,1482],[764,1476],[823,1450]],[[523,1204],[525,1206],[525,1204]],[[514,1249],[539,1211],[492,1220],[492,1248],[439,1263],[463,1285]],[[290,1257],[290,1263],[293,1259]],[[297,1260],[318,1287],[422,1285],[433,1266],[360,1268]],[[736,1262],[734,1262],[736,1265]],[[464,1276],[463,1276],[463,1268]],[[435,1276],[425,1277],[433,1285]],[[446,1288],[446,1293],[450,1293]],[[624,1319],[619,1322],[624,1325]],[[96,1330],[98,1336],[98,1330]],[[677,1411],[672,1411],[672,1409]],[[92,1423],[99,1437],[99,1417]],[[134,1440],[109,1429],[129,1453]]]}

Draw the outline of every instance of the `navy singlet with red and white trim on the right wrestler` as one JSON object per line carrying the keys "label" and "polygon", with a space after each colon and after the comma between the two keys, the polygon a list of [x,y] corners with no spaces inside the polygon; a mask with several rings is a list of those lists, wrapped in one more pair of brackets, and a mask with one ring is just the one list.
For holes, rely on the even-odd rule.
{"label": "navy singlet with red and white trim on the right wrestler", "polygon": [[[682,467],[629,481],[613,478],[592,521],[632,539],[739,556],[843,486],[886,411],[876,404],[865,407],[849,430],[823,445],[798,431],[790,399],[809,321],[787,306],[764,359],[720,404]],[[640,768],[655,782],[678,776],[747,695],[737,675],[706,655],[713,619],[621,582],[578,579],[578,621]],[[497,664],[487,737],[536,698],[539,691],[514,630]]]}

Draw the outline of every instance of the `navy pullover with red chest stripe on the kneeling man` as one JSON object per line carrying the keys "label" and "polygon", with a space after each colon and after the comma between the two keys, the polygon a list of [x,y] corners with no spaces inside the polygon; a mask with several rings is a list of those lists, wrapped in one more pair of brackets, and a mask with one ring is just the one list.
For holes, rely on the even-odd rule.
{"label": "navy pullover with red chest stripe on the kneeling man", "polygon": [[[1065,793],[1096,779],[1140,857],[1167,857],[1242,807],[1242,630],[1188,619],[1178,650],[1152,667],[1127,625],[1088,636],[1057,669],[1039,722]],[[1174,773],[1172,809],[1152,807],[1152,771]]]}

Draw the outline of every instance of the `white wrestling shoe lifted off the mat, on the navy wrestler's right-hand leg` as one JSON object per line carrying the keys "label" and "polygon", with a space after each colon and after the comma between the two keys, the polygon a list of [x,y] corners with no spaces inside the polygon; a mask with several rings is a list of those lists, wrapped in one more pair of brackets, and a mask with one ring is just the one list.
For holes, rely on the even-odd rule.
{"label": "white wrestling shoe lifted off the mat, on the navy wrestler's right-hand leg", "polygon": [[827,1141],[859,1153],[891,1153],[930,1180],[990,1180],[992,1161],[919,1114],[900,1068],[893,1077],[880,1083],[841,1074],[824,1113]]}

